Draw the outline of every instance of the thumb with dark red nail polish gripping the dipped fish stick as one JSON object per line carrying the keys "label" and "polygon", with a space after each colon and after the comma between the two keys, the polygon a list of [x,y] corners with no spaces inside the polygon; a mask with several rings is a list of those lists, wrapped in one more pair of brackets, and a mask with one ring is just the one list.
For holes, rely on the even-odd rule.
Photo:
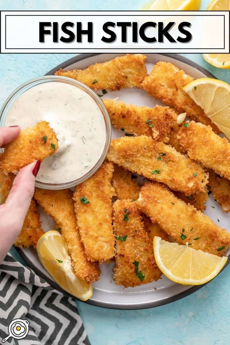
{"label": "thumb with dark red nail polish gripping the dipped fish stick", "polygon": [[37,160],[19,171],[5,203],[5,211],[8,213],[8,216],[12,216],[12,219],[17,217],[15,223],[17,223],[17,228],[19,229],[22,228],[33,197],[35,177],[40,164],[41,161]]}

